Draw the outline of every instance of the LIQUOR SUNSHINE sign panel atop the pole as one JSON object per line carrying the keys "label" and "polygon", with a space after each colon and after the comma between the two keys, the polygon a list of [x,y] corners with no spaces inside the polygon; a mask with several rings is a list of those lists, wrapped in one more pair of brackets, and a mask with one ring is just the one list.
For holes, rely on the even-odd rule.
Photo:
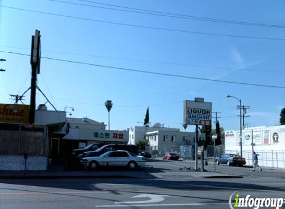
{"label": "LIQUOR SUNSHINE sign panel atop the pole", "polygon": [[212,125],[212,103],[185,100],[183,105],[183,124]]}

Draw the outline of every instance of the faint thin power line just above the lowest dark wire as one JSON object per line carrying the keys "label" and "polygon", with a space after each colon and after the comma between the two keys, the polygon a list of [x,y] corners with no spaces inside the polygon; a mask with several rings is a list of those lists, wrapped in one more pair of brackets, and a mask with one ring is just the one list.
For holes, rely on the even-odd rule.
{"label": "faint thin power line just above the lowest dark wire", "polygon": [[[29,48],[13,47],[13,46],[6,46],[6,45],[0,45],[0,47],[30,50]],[[104,58],[104,59],[117,59],[117,60],[146,62],[146,63],[155,63],[155,64],[168,64],[168,65],[202,67],[202,68],[216,68],[216,69],[222,69],[222,70],[238,70],[238,71],[282,73],[282,74],[285,73],[285,71],[242,69],[242,68],[220,67],[220,66],[210,66],[210,65],[185,64],[185,63],[177,63],[177,62],[163,62],[163,61],[154,61],[154,60],[130,59],[130,58],[119,58],[119,57],[110,57],[110,56],[97,56],[97,55],[92,55],[92,54],[82,54],[82,53],[73,53],[73,52],[59,52],[59,51],[51,51],[51,50],[42,50],[42,52],[52,52],[52,53],[70,54],[70,55],[77,55],[77,56],[79,55],[79,56],[87,56],[87,57],[97,57],[97,58]]]}

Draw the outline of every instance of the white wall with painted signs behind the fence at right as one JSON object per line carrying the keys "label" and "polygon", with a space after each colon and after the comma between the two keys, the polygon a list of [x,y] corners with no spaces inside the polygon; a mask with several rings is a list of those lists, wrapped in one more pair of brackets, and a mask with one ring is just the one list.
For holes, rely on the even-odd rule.
{"label": "white wall with painted signs behind the fence at right", "polygon": [[[225,131],[225,152],[240,153],[239,134],[239,130]],[[285,125],[251,127],[242,131],[243,157],[247,165],[252,165],[252,141],[255,143],[253,150],[259,154],[259,165],[285,168]]]}

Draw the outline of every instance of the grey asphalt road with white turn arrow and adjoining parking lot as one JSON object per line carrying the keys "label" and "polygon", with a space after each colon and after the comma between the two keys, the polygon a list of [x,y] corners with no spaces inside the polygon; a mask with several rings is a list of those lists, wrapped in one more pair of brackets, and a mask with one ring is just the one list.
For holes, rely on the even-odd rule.
{"label": "grey asphalt road with white turn arrow and adjoining parking lot", "polygon": [[243,178],[208,179],[180,170],[192,165],[190,161],[149,160],[146,171],[165,175],[152,179],[0,180],[0,209],[229,209],[235,191],[240,197],[285,198],[285,173],[219,166],[219,172],[239,172]]}

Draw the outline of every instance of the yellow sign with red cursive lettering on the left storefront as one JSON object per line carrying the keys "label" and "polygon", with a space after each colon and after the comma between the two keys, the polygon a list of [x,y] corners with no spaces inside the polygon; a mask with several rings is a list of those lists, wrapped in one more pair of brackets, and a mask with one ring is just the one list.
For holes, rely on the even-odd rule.
{"label": "yellow sign with red cursive lettering on the left storefront", "polygon": [[28,123],[29,105],[0,104],[0,122]]}

